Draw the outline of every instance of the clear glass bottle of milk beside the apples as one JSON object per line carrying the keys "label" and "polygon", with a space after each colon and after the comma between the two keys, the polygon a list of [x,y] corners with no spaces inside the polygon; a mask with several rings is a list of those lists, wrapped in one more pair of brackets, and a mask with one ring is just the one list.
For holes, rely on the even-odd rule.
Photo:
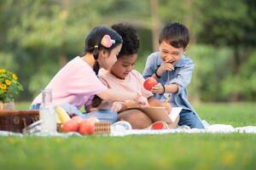
{"label": "clear glass bottle of milk beside the apples", "polygon": [[39,110],[39,119],[41,122],[41,132],[56,132],[56,113],[52,103],[52,90],[42,90],[42,103]]}

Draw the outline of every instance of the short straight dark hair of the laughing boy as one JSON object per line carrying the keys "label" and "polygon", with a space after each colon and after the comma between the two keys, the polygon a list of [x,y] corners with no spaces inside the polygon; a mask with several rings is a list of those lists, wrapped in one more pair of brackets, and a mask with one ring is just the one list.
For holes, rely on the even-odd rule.
{"label": "short straight dark hair of the laughing boy", "polygon": [[186,48],[189,44],[189,30],[177,22],[167,23],[160,31],[159,43],[167,42],[175,48]]}

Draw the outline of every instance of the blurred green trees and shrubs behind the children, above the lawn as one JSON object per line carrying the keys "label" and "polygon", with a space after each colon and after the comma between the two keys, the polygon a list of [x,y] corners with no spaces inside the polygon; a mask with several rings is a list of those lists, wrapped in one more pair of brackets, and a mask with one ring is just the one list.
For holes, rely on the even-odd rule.
{"label": "blurred green trees and shrubs behind the children, above the lawn", "polygon": [[93,27],[128,22],[141,38],[136,69],[142,72],[170,21],[190,31],[190,100],[256,100],[255,0],[1,0],[0,67],[14,71],[24,87],[15,100],[31,101],[68,60],[83,54]]}

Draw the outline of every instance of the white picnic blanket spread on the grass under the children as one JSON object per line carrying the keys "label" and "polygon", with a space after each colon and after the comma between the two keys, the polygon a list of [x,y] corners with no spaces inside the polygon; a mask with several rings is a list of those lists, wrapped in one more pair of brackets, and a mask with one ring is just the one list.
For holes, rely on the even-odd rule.
{"label": "white picnic blanket spread on the grass under the children", "polygon": [[[180,113],[182,108],[173,107],[172,114],[170,115],[172,121],[174,121],[177,115]],[[124,123],[119,123],[123,124]],[[128,122],[127,122],[128,123]],[[233,127],[226,124],[212,124],[209,125],[206,121],[202,121],[205,129],[189,128],[188,126],[181,126],[175,129],[162,129],[162,130],[151,130],[151,129],[131,129],[130,123],[125,124],[125,127],[122,126],[111,126],[110,136],[126,136],[126,135],[145,135],[145,134],[167,134],[167,133],[256,133],[256,126],[246,126],[246,127]],[[106,135],[106,136],[109,136]],[[0,136],[42,136],[42,137],[64,137],[69,136],[82,136],[79,133],[31,133],[31,134],[22,134],[22,133],[12,133],[7,131],[0,131]]]}

